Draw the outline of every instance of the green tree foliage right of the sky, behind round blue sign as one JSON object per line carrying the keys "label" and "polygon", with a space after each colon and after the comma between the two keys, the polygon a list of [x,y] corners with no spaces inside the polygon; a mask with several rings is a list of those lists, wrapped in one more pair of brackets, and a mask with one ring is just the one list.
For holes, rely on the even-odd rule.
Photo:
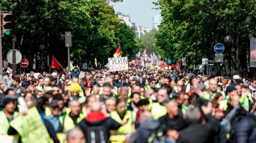
{"label": "green tree foliage right of the sky, behind round blue sign", "polygon": [[163,18],[156,45],[164,57],[185,55],[189,63],[213,59],[214,45],[230,35],[232,71],[240,73],[241,66],[246,68],[250,38],[256,37],[254,0],[159,0],[156,5]]}

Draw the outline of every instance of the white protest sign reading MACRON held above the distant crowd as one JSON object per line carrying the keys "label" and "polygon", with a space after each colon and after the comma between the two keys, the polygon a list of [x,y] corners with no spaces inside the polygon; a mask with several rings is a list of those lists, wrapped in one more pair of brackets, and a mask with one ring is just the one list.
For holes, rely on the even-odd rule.
{"label": "white protest sign reading MACRON held above the distant crowd", "polygon": [[127,57],[109,58],[109,71],[126,71],[128,70]]}

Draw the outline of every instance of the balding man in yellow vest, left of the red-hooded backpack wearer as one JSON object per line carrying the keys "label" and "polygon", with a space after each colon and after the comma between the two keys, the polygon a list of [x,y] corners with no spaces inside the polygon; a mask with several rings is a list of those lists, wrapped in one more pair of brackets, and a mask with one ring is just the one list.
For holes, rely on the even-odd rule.
{"label": "balding man in yellow vest, left of the red-hooded backpack wearer", "polygon": [[63,132],[68,132],[70,129],[84,119],[84,115],[80,112],[80,103],[77,100],[69,102],[70,112],[66,112],[64,116],[60,117],[60,125],[63,127]]}

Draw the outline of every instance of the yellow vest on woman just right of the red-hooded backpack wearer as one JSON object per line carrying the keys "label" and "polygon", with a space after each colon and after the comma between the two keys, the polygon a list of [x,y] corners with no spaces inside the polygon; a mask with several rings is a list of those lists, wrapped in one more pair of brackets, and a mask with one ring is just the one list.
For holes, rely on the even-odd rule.
{"label": "yellow vest on woman just right of the red-hooded backpack wearer", "polygon": [[[116,122],[121,123],[122,119],[118,115],[117,111],[113,111],[110,113],[110,117],[114,119]],[[126,120],[127,123],[125,125],[122,125],[120,128],[117,129],[117,134],[123,135],[127,133],[133,132],[133,127],[131,126],[133,122],[136,120],[136,112],[126,110],[125,116],[123,117],[123,120]]]}

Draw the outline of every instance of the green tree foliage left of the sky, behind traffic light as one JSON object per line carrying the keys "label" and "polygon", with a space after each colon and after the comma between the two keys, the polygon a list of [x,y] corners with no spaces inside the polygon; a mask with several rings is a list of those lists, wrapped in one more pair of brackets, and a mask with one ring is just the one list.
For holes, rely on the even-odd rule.
{"label": "green tree foliage left of the sky, behind traffic light", "polygon": [[[2,0],[0,10],[14,15],[16,45],[30,61],[34,54],[45,61],[47,55],[54,55],[66,66],[65,31],[72,32],[71,59],[79,62],[92,64],[96,57],[98,62],[106,62],[112,57],[117,40],[125,42],[124,54],[128,56],[138,50],[138,41],[130,28],[121,24],[113,7],[102,0]],[[11,39],[3,38],[4,52],[11,49]],[[41,44],[46,48],[40,50]]]}

